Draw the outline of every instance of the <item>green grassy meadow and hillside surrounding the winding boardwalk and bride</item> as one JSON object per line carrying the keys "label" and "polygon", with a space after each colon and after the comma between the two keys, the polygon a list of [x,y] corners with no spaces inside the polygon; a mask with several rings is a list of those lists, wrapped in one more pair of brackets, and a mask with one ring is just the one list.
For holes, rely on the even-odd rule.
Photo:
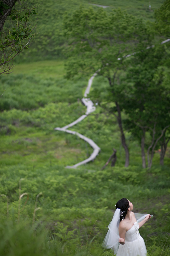
{"label": "green grassy meadow and hillside surrounding the winding boardwalk and bride", "polygon": [[[107,0],[104,5],[152,21],[153,10],[163,3],[151,2],[150,12],[148,1],[127,2]],[[170,144],[164,166],[155,151],[151,169],[143,169],[139,142],[126,131],[130,165],[125,168],[116,119],[96,106],[95,112],[70,130],[94,140],[101,151],[93,162],[65,168],[93,152],[80,138],[55,130],[86,112],[81,99],[89,77],[64,78],[64,39],[59,37],[61,15],[80,4],[89,2],[48,1],[40,5],[40,34],[30,50],[17,57],[12,73],[0,77],[0,92],[4,93],[0,98],[0,255],[111,256],[113,251],[101,244],[116,202],[126,197],[134,212],[153,215],[140,228],[148,256],[168,256]],[[106,79],[98,76],[91,90],[106,86]],[[122,118],[126,118],[124,113]],[[117,150],[116,164],[101,170],[112,148]]]}

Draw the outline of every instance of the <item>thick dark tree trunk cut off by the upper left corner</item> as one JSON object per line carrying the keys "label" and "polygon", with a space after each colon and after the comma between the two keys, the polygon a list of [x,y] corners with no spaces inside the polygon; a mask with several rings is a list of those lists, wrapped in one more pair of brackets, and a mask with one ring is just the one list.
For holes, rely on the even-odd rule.
{"label": "thick dark tree trunk cut off by the upper left corner", "polygon": [[[1,2],[0,8],[1,8],[1,11],[3,12],[3,15],[2,15],[2,13],[0,13],[0,31],[2,31],[5,20],[8,17],[8,15],[10,14],[10,11],[11,11],[12,7],[14,6],[16,0],[3,0],[0,2]],[[9,9],[6,9],[8,7],[9,7]]]}

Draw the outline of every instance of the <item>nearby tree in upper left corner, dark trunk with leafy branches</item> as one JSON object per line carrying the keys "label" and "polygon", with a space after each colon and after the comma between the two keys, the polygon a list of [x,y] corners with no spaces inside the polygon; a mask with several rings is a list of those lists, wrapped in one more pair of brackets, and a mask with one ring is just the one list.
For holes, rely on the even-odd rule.
{"label": "nearby tree in upper left corner, dark trunk with leafy branches", "polygon": [[28,49],[30,40],[37,34],[37,22],[31,22],[33,14],[37,14],[35,6],[29,6],[28,2],[0,1],[0,74],[10,72],[11,60]]}

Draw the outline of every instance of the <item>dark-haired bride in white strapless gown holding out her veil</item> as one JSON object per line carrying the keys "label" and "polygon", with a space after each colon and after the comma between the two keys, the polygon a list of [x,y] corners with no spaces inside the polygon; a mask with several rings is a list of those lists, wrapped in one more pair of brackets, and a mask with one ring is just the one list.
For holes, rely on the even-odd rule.
{"label": "dark-haired bride in white strapless gown holding out her veil", "polygon": [[[152,217],[134,214],[133,204],[127,198],[116,203],[116,211],[104,238],[102,246],[112,248],[116,256],[146,256],[146,246],[139,234],[139,228]],[[137,219],[137,220],[136,220]]]}

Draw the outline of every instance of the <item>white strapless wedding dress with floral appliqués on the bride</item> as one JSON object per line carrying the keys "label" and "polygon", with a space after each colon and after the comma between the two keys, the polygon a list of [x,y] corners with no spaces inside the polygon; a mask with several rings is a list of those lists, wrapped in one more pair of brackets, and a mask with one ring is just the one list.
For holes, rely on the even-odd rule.
{"label": "white strapless wedding dress with floral appliqu\u00e9s on the bride", "polygon": [[125,244],[120,244],[116,256],[146,256],[146,246],[139,234],[138,222],[134,222],[132,228],[126,231]]}

